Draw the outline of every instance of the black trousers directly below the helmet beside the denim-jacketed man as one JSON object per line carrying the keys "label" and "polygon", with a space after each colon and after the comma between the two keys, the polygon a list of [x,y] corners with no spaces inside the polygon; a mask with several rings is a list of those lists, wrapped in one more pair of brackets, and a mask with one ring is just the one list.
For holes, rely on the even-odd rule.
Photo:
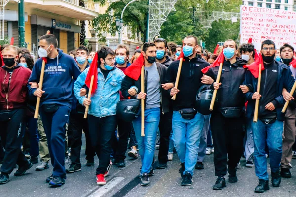
{"label": "black trousers directly below the helmet beside the denim-jacketed man", "polygon": [[117,124],[118,124],[119,140],[117,141],[116,136],[113,135],[114,137],[113,150],[114,150],[115,160],[119,161],[119,160],[124,160],[126,158],[125,153],[127,150],[129,133],[132,129],[132,122],[126,122],[117,117]]}

